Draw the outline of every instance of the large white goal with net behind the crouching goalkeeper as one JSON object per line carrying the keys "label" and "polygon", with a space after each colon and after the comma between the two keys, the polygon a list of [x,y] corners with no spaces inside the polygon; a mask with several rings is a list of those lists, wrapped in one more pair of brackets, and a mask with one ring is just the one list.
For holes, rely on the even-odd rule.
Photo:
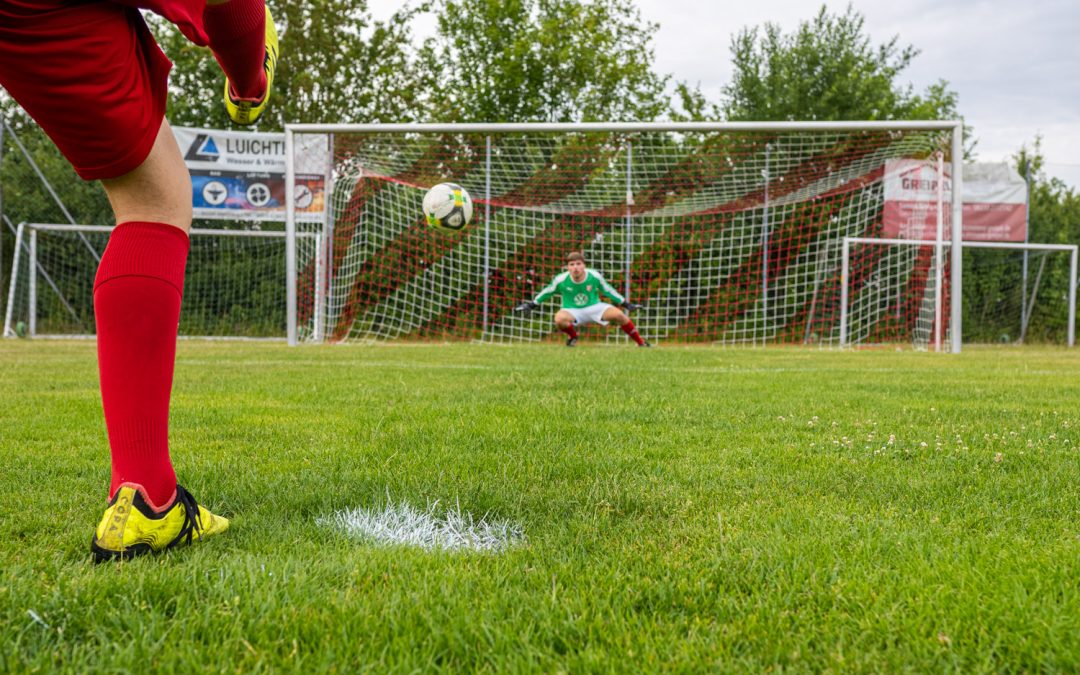
{"label": "large white goal with net behind the crouching goalkeeper", "polygon": [[[293,156],[312,135],[328,172]],[[287,242],[315,284],[288,283],[289,341],[552,339],[548,308],[512,308],[581,251],[650,340],[838,346],[843,240],[885,235],[887,162],[940,157],[958,195],[960,139],[957,122],[288,125],[286,231],[323,235],[306,261]],[[332,176],[322,224],[296,218],[312,173]],[[460,233],[424,225],[442,181],[473,197]]]}

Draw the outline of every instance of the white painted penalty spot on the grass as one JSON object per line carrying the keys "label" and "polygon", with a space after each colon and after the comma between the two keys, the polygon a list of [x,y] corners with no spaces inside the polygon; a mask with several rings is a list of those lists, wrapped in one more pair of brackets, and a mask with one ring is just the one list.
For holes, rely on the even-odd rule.
{"label": "white painted penalty spot on the grass", "polygon": [[437,507],[436,501],[420,511],[405,502],[388,502],[382,508],[338,511],[316,522],[355,539],[426,551],[499,552],[525,541],[521,526],[513,523],[487,515],[477,521],[460,505],[442,513]]}

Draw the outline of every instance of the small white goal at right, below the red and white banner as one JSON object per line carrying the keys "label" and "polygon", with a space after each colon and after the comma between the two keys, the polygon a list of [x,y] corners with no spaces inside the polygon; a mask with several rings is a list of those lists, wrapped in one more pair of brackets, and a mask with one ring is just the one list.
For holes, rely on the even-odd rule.
{"label": "small white goal at right, below the red and white banner", "polygon": [[[962,242],[966,285],[954,301],[951,242],[846,237],[840,346],[907,345],[943,351],[961,310],[966,343],[1062,343],[1076,337],[1077,246]],[[1035,274],[1022,270],[1032,257]],[[1035,319],[1035,321],[1032,321]],[[1029,333],[1036,326],[1037,332]]]}

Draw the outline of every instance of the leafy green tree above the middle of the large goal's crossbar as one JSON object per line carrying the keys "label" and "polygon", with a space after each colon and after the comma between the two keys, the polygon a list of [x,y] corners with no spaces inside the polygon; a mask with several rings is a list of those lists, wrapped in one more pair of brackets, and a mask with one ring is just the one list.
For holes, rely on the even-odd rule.
{"label": "leafy green tree above the middle of the large goal's crossbar", "polygon": [[457,122],[653,120],[654,24],[622,0],[441,0],[427,112]]}

